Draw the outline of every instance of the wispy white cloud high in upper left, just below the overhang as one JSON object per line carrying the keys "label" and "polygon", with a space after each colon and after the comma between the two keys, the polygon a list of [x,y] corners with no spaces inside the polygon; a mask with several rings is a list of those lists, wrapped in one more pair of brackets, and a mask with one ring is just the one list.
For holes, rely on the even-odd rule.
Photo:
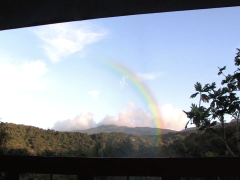
{"label": "wispy white cloud high in upper left, just below the overhang", "polygon": [[41,26],[34,32],[44,42],[41,47],[53,63],[82,51],[84,46],[100,40],[107,34],[101,27],[73,22]]}

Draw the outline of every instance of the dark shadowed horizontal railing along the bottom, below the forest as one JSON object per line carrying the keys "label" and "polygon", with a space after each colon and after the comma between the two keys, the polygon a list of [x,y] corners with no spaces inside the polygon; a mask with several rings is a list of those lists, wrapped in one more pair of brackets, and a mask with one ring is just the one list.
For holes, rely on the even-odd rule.
{"label": "dark shadowed horizontal railing along the bottom, below the forest", "polygon": [[80,158],[0,156],[0,170],[13,173],[88,176],[239,176],[240,157],[215,158]]}

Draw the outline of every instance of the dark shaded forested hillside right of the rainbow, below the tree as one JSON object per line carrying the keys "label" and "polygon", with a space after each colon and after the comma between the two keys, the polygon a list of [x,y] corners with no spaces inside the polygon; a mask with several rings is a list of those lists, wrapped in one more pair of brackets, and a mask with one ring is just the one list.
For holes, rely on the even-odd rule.
{"label": "dark shaded forested hillside right of the rainbow, below the tree", "polygon": [[[237,154],[236,122],[226,124],[226,137],[229,147]],[[214,128],[216,135],[222,134],[222,128]],[[165,135],[161,154],[165,157],[218,157],[232,156],[225,143],[210,131],[184,131]]]}

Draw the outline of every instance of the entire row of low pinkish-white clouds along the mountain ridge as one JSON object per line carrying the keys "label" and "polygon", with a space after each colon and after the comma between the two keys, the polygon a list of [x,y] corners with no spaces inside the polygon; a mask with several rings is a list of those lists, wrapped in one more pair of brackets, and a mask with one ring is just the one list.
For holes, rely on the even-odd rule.
{"label": "entire row of low pinkish-white clouds along the mountain ridge", "polygon": [[[187,116],[183,111],[174,109],[171,104],[158,108],[161,112],[160,128],[176,131],[184,129]],[[145,112],[142,108],[137,108],[133,102],[129,102],[127,107],[118,113],[117,117],[106,115],[99,123],[96,123],[93,114],[85,112],[72,120],[57,121],[53,129],[59,131],[84,130],[101,125],[155,128],[156,122],[149,112]]]}

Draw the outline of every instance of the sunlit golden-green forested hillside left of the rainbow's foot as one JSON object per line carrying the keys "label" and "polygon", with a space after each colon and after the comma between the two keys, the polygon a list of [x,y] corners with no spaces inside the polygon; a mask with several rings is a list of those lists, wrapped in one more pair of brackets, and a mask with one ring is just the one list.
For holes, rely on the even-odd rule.
{"label": "sunlit golden-green forested hillside left of the rainbow's foot", "polygon": [[[127,135],[120,132],[88,135],[80,132],[59,132],[43,130],[33,126],[1,123],[1,154],[37,156],[75,156],[79,149],[92,149],[97,142],[102,147],[113,142],[118,149],[126,143],[131,150],[154,147],[154,137]],[[126,151],[130,151],[129,147]],[[126,154],[126,153],[125,153]],[[124,155],[124,153],[122,153]],[[121,156],[121,154],[119,154]]]}

